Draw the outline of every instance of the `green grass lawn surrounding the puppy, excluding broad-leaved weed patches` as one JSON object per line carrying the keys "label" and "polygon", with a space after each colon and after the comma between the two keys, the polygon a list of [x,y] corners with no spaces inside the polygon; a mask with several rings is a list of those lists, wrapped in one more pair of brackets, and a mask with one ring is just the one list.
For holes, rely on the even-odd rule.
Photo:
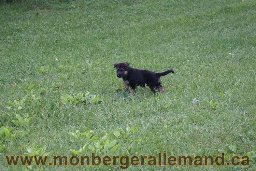
{"label": "green grass lawn surrounding the puppy, excluding broad-leaved weed patches", "polygon": [[[0,137],[0,145],[5,145],[0,152],[1,170],[27,168],[8,167],[4,156],[25,155],[33,143],[36,147],[45,145],[51,158],[71,156],[70,149],[78,151],[91,141],[73,139],[69,132],[76,130],[93,130],[99,139],[108,135],[108,139],[117,140],[118,148],[98,149],[100,156],[157,156],[157,152],[217,156],[224,149],[228,160],[234,154],[251,152],[251,166],[245,168],[129,169],[255,170],[255,21],[254,0],[2,3],[0,126],[13,128],[11,134],[20,132],[11,138]],[[161,78],[166,89],[163,94],[154,96],[148,88],[138,87],[130,96],[127,90],[119,90],[123,82],[116,77],[116,62],[130,62],[131,67],[155,72],[173,69],[175,74]],[[62,94],[87,91],[103,101],[61,101]],[[200,102],[193,104],[194,97]],[[19,105],[6,108],[8,101],[23,98],[24,104],[19,104],[22,109],[16,109]],[[30,123],[15,124],[16,114],[31,118]],[[139,127],[138,132],[127,138],[113,134],[116,127],[125,130],[128,126]],[[82,154],[90,153],[87,149]],[[119,164],[89,167],[111,168],[119,169]]]}

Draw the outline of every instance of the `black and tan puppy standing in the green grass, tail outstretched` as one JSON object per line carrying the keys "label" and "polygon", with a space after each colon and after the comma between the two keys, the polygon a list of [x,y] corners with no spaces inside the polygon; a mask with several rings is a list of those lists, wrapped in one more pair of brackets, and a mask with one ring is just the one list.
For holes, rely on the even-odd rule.
{"label": "black and tan puppy standing in the green grass, tail outstretched", "polygon": [[160,76],[174,73],[173,70],[167,70],[165,72],[152,72],[148,70],[139,70],[136,68],[131,68],[129,63],[115,63],[117,77],[123,78],[126,88],[130,89],[130,94],[133,94],[136,86],[149,86],[151,91],[155,93],[155,88],[160,92],[165,91],[161,86]]}

